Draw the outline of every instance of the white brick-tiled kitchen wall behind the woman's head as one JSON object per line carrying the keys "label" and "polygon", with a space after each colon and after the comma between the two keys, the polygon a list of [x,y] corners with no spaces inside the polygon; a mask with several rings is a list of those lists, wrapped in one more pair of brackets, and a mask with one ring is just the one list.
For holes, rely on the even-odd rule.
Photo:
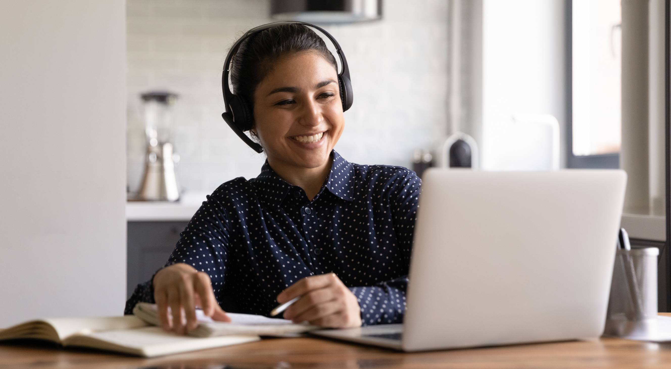
{"label": "white brick-tiled kitchen wall behind the woman's head", "polygon": [[[448,1],[383,6],[381,21],[324,26],[347,56],[354,87],[335,149],[355,163],[411,167],[413,151],[446,132]],[[269,14],[268,0],[127,0],[130,190],[140,186],[144,163],[138,94],[161,87],[180,94],[176,170],[187,190],[211,192],[258,175],[264,155],[221,119],[221,68],[236,38],[273,22]]]}

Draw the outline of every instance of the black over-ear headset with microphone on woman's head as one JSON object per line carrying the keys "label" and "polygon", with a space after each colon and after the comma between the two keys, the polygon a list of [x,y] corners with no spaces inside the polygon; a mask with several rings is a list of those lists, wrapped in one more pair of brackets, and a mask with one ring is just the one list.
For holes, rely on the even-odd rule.
{"label": "black over-ear headset with microphone on woman's head", "polygon": [[230,65],[231,65],[231,58],[236,54],[238,51],[238,48],[240,47],[240,44],[242,41],[244,41],[246,38],[252,36],[253,34],[256,34],[258,32],[261,32],[262,30],[267,30],[268,28],[275,27],[275,26],[283,26],[285,24],[303,24],[305,26],[310,26],[313,28],[317,28],[317,30],[321,31],[323,34],[326,35],[326,37],[333,42],[333,45],[335,46],[335,50],[338,52],[338,56],[340,56],[340,65],[342,65],[342,71],[340,74],[338,74],[338,83],[340,85],[340,99],[342,100],[342,111],[345,112],[352,106],[352,102],[354,102],[354,94],[352,93],[352,82],[350,81],[350,69],[347,67],[347,59],[345,58],[345,54],[343,54],[342,50],[340,49],[340,45],[338,44],[338,41],[335,41],[335,38],[331,36],[328,32],[323,30],[320,27],[315,26],[314,24],[309,24],[305,22],[273,22],[273,23],[268,23],[264,24],[262,26],[258,26],[255,28],[252,28],[251,30],[247,31],[246,34],[244,34],[238,41],[236,41],[233,46],[231,46],[231,49],[228,51],[228,55],[226,56],[225,63],[223,65],[223,73],[221,74],[221,90],[223,91],[223,104],[225,105],[226,112],[221,114],[221,118],[226,121],[229,127],[238,134],[242,140],[249,145],[252,149],[254,149],[257,153],[262,153],[263,148],[261,145],[258,145],[258,143],[252,141],[251,138],[249,138],[246,134],[244,134],[244,131],[252,129],[252,114],[253,112],[250,111],[249,106],[245,103],[244,99],[242,97],[231,93],[231,90],[228,87],[228,73],[230,71]]}

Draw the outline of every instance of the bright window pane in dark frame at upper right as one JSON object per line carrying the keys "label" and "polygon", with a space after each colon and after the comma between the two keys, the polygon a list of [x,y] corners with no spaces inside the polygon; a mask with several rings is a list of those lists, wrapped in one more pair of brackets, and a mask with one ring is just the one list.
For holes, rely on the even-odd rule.
{"label": "bright window pane in dark frame at upper right", "polygon": [[568,12],[568,167],[619,167],[621,5],[571,1]]}

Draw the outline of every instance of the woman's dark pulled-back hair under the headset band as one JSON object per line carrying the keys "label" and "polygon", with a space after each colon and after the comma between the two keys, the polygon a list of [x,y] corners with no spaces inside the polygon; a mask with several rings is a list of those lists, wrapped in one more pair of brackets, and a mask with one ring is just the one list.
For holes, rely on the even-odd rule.
{"label": "woman's dark pulled-back hair under the headset band", "polygon": [[[324,40],[303,24],[283,24],[262,30],[244,40],[231,58],[230,81],[233,93],[242,97],[254,119],[254,91],[275,63],[299,52],[315,52],[338,71],[333,54]],[[258,136],[250,132],[256,142]],[[260,142],[259,142],[260,143]]]}

